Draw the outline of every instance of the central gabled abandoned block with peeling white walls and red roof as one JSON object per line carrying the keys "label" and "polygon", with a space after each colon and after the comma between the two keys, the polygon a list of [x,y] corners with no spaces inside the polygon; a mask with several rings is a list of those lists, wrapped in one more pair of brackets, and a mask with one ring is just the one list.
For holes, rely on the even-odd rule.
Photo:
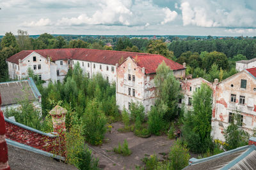
{"label": "central gabled abandoned block with peeling white walls and red roof", "polygon": [[143,104],[145,113],[155,102],[154,76],[156,69],[165,62],[173,70],[176,78],[185,77],[185,67],[161,55],[141,55],[128,57],[117,69],[116,105],[119,110],[127,110],[132,102]]}

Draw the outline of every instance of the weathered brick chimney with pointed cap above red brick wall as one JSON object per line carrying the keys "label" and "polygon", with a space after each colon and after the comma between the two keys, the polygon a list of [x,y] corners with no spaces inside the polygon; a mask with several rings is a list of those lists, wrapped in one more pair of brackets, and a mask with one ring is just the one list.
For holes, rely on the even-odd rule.
{"label": "weathered brick chimney with pointed cap above red brick wall", "polygon": [[60,133],[60,131],[66,131],[65,120],[67,110],[56,105],[49,113],[52,116],[53,131],[58,133]]}

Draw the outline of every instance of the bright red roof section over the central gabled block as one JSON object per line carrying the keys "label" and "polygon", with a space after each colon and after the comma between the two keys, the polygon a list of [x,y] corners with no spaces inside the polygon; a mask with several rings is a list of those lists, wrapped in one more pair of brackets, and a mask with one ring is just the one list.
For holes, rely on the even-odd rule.
{"label": "bright red roof section over the central gabled block", "polygon": [[146,74],[156,73],[157,67],[163,61],[171,70],[185,69],[181,64],[174,62],[173,60],[166,59],[162,55],[141,55],[133,58],[138,63],[138,66],[141,68],[145,67]]}

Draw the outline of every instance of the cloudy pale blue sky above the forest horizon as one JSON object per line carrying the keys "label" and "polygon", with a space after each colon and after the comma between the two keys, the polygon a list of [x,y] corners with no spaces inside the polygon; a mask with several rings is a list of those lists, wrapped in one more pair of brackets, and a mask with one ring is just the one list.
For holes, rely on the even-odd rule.
{"label": "cloudy pale blue sky above the forest horizon", "polygon": [[0,35],[256,36],[255,0],[0,0]]}

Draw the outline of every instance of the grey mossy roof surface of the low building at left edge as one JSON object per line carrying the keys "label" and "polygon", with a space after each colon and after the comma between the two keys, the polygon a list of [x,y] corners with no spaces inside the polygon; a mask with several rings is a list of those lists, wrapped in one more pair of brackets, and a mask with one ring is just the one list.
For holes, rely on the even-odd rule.
{"label": "grey mossy roof surface of the low building at left edge", "polygon": [[0,83],[0,94],[2,106],[19,103],[19,101],[23,101],[26,97],[28,101],[36,100],[28,80]]}

